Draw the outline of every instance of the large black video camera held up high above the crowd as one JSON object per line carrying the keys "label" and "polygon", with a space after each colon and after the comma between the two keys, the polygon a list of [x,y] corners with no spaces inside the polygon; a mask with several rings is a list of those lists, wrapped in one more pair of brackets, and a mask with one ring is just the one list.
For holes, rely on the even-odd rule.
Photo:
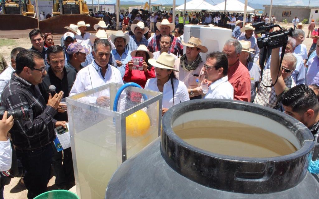
{"label": "large black video camera held up high above the crowd", "polygon": [[[255,34],[264,33],[267,36],[264,38],[257,39],[257,45],[261,49],[266,47],[268,49],[278,48],[284,46],[288,41],[288,35],[293,36],[293,29],[283,29],[280,25],[269,25],[265,26],[265,22],[256,22],[251,24],[255,28]],[[279,27],[280,30],[276,32],[269,32],[271,28]]]}

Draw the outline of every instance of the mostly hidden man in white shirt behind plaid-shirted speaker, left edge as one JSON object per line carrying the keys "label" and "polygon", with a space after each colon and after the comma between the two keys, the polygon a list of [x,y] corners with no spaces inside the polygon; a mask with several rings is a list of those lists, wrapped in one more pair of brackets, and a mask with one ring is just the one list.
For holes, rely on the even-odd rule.
{"label": "mostly hidden man in white shirt behind plaid-shirted speaker, left edge", "polygon": [[25,50],[25,48],[17,47],[13,48],[10,54],[11,57],[11,64],[8,68],[6,68],[1,74],[0,74],[0,96],[2,94],[2,91],[4,87],[7,85],[9,80],[11,79],[11,74],[16,70],[16,57],[17,54],[20,53],[20,51]]}

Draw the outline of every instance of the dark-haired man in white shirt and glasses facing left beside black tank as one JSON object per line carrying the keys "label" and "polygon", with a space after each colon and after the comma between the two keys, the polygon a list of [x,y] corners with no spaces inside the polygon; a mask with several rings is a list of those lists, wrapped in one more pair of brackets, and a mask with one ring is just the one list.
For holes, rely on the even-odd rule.
{"label": "dark-haired man in white shirt and glasses facing left beside black tank", "polygon": [[204,64],[205,79],[212,82],[205,99],[234,99],[234,88],[228,82],[228,60],[222,52],[207,54]]}

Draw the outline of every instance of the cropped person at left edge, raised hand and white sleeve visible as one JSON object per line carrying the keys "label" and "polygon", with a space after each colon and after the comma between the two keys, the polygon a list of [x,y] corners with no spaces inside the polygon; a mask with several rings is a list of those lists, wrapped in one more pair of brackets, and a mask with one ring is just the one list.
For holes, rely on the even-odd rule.
{"label": "cropped person at left edge, raised hand and white sleeve visible", "polygon": [[[13,117],[8,117],[8,111],[5,111],[0,120],[0,171],[7,171],[11,168],[12,148],[7,134],[12,126]],[[4,185],[0,183],[0,199],[3,198],[3,190]]]}

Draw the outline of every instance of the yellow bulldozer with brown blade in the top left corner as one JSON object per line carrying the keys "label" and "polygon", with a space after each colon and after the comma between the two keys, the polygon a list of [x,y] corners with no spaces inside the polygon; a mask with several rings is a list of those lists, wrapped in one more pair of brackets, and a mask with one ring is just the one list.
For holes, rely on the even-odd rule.
{"label": "yellow bulldozer with brown blade in the top left corner", "polygon": [[38,27],[31,0],[1,0],[0,30],[25,30]]}

